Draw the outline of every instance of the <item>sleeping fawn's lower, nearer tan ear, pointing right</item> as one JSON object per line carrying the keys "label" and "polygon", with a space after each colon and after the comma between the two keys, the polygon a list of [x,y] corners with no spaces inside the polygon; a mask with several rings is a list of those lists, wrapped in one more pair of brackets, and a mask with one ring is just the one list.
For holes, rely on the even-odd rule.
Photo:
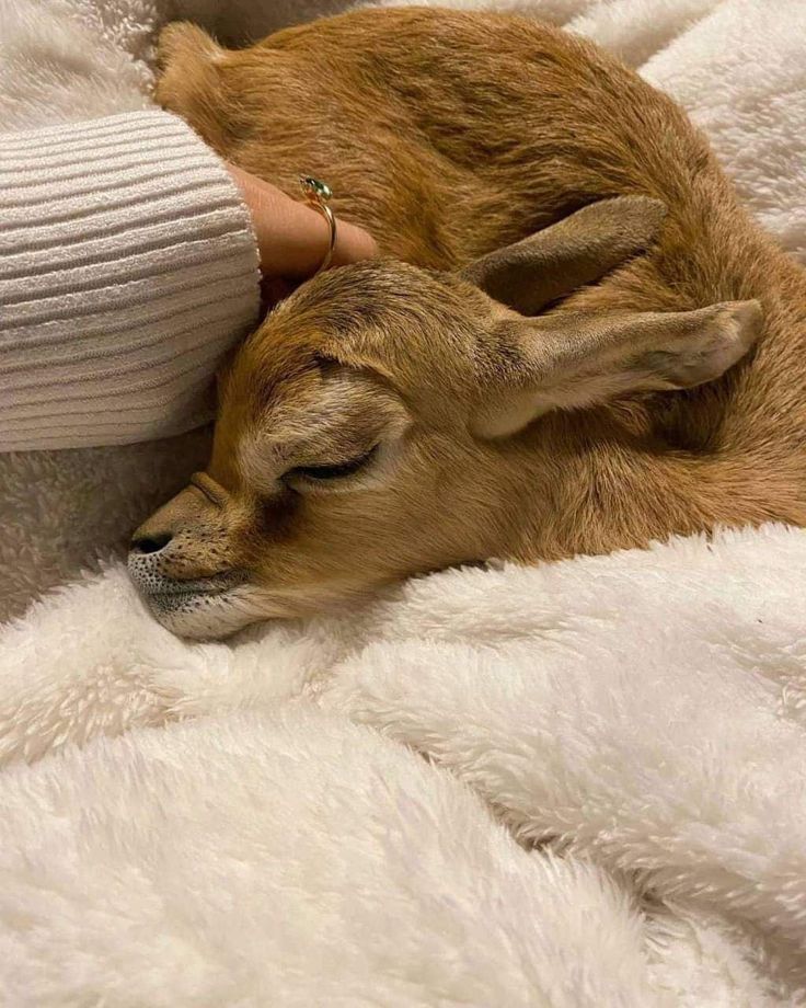
{"label": "sleeping fawn's lower, nearer tan ear, pointing right", "polygon": [[758,339],[758,301],[686,312],[576,312],[496,324],[472,428],[513,434],[542,413],[718,378]]}

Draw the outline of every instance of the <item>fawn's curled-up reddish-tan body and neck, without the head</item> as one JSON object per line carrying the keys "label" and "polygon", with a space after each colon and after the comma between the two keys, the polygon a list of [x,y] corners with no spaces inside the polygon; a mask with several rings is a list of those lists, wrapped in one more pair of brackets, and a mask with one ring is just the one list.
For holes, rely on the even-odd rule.
{"label": "fawn's curled-up reddish-tan body and neck, without the head", "polygon": [[551,458],[531,428],[513,440],[521,471],[559,478],[533,520],[530,502],[514,502],[510,555],[806,525],[806,274],[738,206],[670,100],[580,39],[494,14],[364,12],[241,53],[185,27],[164,51],[164,104],[288,191],[301,170],[326,179],[336,213],[384,253],[449,268],[585,204],[641,193],[668,207],[658,245],[556,312],[761,302],[756,352],[719,381],[546,416]]}

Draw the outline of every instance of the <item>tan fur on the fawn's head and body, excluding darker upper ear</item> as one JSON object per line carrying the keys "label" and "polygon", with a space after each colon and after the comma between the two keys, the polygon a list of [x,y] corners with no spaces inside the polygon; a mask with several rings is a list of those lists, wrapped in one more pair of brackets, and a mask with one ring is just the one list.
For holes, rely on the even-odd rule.
{"label": "tan fur on the fawn's head and body, excluding darker upper ear", "polygon": [[[226,606],[206,599],[207,621],[196,602],[157,605],[166,625],[217,634],[491,555],[806,524],[806,276],[737,205],[684,114],[632,71],[532,21],[425,9],[343,15],[242,51],[174,25],[161,47],[159,100],[221,154],[291,193],[300,171],[327,180],[337,215],[414,264],[318,277],[241,350],[210,496],[188,489],[139,536],[174,537],[149,561],[161,583],[234,571],[244,584]],[[656,244],[538,319],[469,283],[476,257],[622,194],[666,206]],[[571,278],[596,278],[583,274]],[[745,360],[652,391],[721,375],[757,335],[728,329],[758,310],[698,316],[711,350],[703,336],[682,368],[668,327],[647,343],[660,323],[635,313],[752,300],[763,324]],[[604,350],[597,319],[614,320]],[[633,339],[641,360],[625,356]],[[338,488],[284,478],[376,444],[370,469]]]}

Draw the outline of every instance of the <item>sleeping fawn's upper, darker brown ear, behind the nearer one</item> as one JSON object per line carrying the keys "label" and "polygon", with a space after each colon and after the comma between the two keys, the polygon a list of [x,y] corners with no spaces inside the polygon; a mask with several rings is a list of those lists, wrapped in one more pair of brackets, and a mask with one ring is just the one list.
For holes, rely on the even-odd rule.
{"label": "sleeping fawn's upper, darker brown ear, behind the nearer one", "polygon": [[461,276],[526,316],[592,284],[657,237],[666,207],[648,196],[601,199],[514,245],[491,252]]}

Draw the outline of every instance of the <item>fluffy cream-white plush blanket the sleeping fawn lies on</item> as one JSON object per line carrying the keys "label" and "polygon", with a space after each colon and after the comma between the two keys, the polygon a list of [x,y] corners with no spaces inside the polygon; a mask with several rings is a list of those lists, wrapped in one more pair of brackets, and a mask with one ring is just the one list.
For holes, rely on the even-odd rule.
{"label": "fluffy cream-white plush blanket the sleeping fawn lies on", "polygon": [[[804,255],[806,4],[507,5],[643,64]],[[177,12],[315,4],[182,7],[0,7],[0,119],[142,102]],[[3,459],[12,604],[172,450]],[[0,1003],[806,1004],[805,580],[806,532],[769,528],[189,645],[119,564],[85,576],[0,638]]]}

